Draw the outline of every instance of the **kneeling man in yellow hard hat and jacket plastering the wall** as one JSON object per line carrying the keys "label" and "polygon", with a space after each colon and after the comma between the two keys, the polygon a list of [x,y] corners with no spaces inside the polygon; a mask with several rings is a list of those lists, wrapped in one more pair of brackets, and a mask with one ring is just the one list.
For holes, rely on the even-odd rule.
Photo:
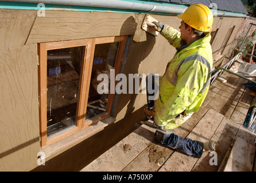
{"label": "kneeling man in yellow hard hat and jacket plastering the wall", "polygon": [[[160,78],[158,100],[153,107],[144,109],[147,116],[154,117],[155,125],[168,130],[182,125],[199,110],[210,86],[212,68],[211,10],[195,3],[177,17],[181,19],[180,31],[153,22],[152,26],[176,47],[177,52]],[[152,105],[152,101],[148,102]],[[200,158],[204,150],[215,150],[212,141],[193,141],[174,133],[156,132],[156,135],[162,144],[192,157]]]}

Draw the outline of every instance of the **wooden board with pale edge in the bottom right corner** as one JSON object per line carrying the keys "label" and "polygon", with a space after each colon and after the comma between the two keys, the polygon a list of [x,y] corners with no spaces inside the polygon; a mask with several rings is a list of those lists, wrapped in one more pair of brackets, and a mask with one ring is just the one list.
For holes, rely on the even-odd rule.
{"label": "wooden board with pale edge in the bottom right corner", "polygon": [[255,133],[240,126],[224,172],[251,172],[253,170],[255,138]]}

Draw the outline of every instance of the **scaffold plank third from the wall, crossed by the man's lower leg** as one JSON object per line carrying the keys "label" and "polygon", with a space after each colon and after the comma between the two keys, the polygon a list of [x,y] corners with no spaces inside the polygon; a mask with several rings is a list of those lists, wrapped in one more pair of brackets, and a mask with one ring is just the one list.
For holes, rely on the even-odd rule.
{"label": "scaffold plank third from the wall, crossed by the man's lower leg", "polygon": [[[223,115],[213,109],[209,109],[187,138],[206,142],[211,139],[216,128],[223,119]],[[205,152],[208,154],[208,152]],[[203,154],[205,154],[203,153]],[[191,171],[199,158],[193,158],[185,154],[174,152],[159,170],[160,172]]]}

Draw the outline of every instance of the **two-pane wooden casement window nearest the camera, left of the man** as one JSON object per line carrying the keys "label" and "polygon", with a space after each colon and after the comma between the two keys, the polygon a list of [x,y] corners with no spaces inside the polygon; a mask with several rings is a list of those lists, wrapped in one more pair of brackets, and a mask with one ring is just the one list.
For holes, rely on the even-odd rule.
{"label": "two-pane wooden casement window nearest the camera, left of the man", "polygon": [[125,42],[126,36],[38,43],[42,147],[110,116],[114,94],[98,93],[97,76],[119,73]]}

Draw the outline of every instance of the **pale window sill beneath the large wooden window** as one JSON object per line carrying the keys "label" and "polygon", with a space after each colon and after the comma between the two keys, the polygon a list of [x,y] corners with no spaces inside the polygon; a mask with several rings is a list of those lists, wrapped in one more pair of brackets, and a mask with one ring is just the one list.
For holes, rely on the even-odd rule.
{"label": "pale window sill beneath the large wooden window", "polygon": [[113,124],[114,121],[114,117],[108,116],[107,118],[95,122],[87,128],[79,130],[76,133],[72,133],[69,136],[64,137],[63,139],[54,142],[53,144],[41,148],[40,151],[44,152],[45,160],[48,161],[51,158],[57,156],[58,154],[64,152],[65,150],[72,148],[72,146],[79,144],[79,142],[86,140],[95,133],[100,132],[100,130],[104,129],[106,126]]}

